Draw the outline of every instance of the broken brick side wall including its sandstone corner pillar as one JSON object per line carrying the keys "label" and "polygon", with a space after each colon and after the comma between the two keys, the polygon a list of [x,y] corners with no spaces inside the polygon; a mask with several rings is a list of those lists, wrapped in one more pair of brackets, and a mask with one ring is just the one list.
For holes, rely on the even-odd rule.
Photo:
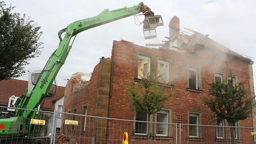
{"label": "broken brick side wall including its sandstone corner pillar", "polygon": [[[66,85],[66,95],[64,100],[64,111],[74,113],[76,109],[76,114],[83,114],[84,106],[87,106],[87,115],[89,116],[100,116],[108,117],[108,97],[110,88],[110,76],[111,76],[111,64],[112,60],[102,58],[97,64],[92,72],[91,81],[89,84],[85,85],[81,89],[75,90],[77,84],[79,84],[80,74],[73,74],[71,79]],[[72,120],[72,115],[70,115],[70,120]],[[103,140],[106,137],[106,126],[107,121],[96,118],[86,118],[86,129],[81,130],[83,124],[83,119],[81,116],[76,116],[75,120],[78,121],[78,126],[67,125],[65,119],[68,119],[67,115],[63,117],[63,132],[65,135],[70,136],[78,142],[91,143],[92,137],[100,140],[95,140],[95,143],[105,143]],[[101,140],[102,139],[102,140]]]}

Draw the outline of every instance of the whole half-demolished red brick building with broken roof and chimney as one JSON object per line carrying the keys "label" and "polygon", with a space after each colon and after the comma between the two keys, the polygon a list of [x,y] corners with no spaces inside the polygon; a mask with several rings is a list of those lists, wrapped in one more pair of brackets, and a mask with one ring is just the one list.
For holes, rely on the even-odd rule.
{"label": "whole half-demolished red brick building with broken roof and chimney", "polygon": [[[160,76],[161,82],[168,82],[167,92],[176,92],[171,100],[166,101],[166,108],[155,116],[151,116],[150,121],[160,121],[167,123],[183,124],[204,124],[227,126],[227,122],[222,120],[216,122],[212,118],[213,113],[204,105],[200,98],[207,96],[207,82],[213,82],[215,79],[228,79],[229,83],[237,84],[245,82],[245,89],[249,92],[248,97],[254,96],[252,64],[250,57],[233,52],[227,47],[213,41],[196,31],[187,29],[190,35],[180,32],[179,18],[174,16],[169,23],[170,37],[168,41],[162,44],[160,48],[148,48],[133,44],[125,40],[114,41],[112,47],[111,59],[101,58],[91,76],[89,83],[83,88],[76,90],[72,79],[79,76],[72,76],[66,85],[66,94],[64,100],[64,110],[68,113],[87,114],[89,116],[101,116],[109,118],[129,119],[147,121],[147,114],[132,112],[129,103],[125,98],[129,98],[125,93],[123,84],[128,84],[131,77],[135,81],[140,81],[142,68],[144,72],[150,68],[156,68],[156,76]],[[192,34],[191,34],[192,33]],[[160,45],[160,44],[159,44]],[[229,80],[230,71],[236,75],[235,80]],[[246,120],[236,122],[237,126],[256,127],[255,111],[253,115]],[[161,115],[161,116],[160,116]],[[64,116],[64,119],[78,120],[80,126],[63,125],[63,132],[66,135],[76,135],[81,143],[86,138],[95,137],[104,139],[111,136],[110,124],[106,121],[99,123],[97,120],[86,120],[84,117]],[[85,122],[84,122],[85,121]],[[84,128],[86,123],[86,128]],[[100,125],[102,129],[98,128]],[[127,124],[132,131],[129,133],[129,140],[146,139],[147,127],[138,127],[138,124]],[[93,131],[87,130],[87,127],[94,127]],[[158,139],[171,142],[174,134],[172,126],[166,126],[162,131],[157,129],[156,124],[150,126],[151,141],[155,136],[161,135]],[[99,132],[100,131],[100,132]],[[192,132],[196,131],[196,132]],[[229,141],[229,131],[224,128],[215,128],[211,131],[214,136],[204,137],[202,133],[206,132],[202,127],[183,127],[182,132],[187,136],[182,137],[182,141],[191,141],[193,143],[223,143]],[[244,139],[241,135],[248,135]],[[115,136],[121,136],[115,135]],[[131,138],[131,139],[130,139]],[[221,142],[220,142],[221,141]],[[253,143],[251,131],[236,129],[236,141],[242,143]],[[100,141],[97,143],[108,143],[109,141]],[[112,141],[113,142],[113,141]],[[86,142],[85,142],[86,143]],[[88,140],[89,143],[89,140]],[[134,142],[136,143],[136,142]]]}

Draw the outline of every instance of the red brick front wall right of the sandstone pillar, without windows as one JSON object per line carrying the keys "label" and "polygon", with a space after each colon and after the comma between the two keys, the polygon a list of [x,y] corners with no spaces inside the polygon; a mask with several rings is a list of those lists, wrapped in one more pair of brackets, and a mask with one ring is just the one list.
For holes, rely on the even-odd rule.
{"label": "red brick front wall right of the sandstone pillar, without windows", "polygon": [[[131,77],[135,76],[137,52],[153,55],[151,63],[154,63],[154,68],[156,68],[157,57],[172,60],[174,88],[172,90],[168,89],[167,91],[176,92],[176,94],[172,96],[171,100],[166,101],[167,107],[172,108],[172,123],[177,122],[177,115],[182,115],[183,124],[187,124],[187,111],[196,110],[202,112],[202,124],[215,125],[215,121],[212,119],[214,114],[204,105],[204,102],[200,100],[200,98],[207,96],[205,91],[207,91],[209,86],[205,81],[213,81],[214,70],[225,72],[226,75],[229,74],[231,70],[232,74],[237,76],[238,82],[246,82],[244,85],[245,89],[250,91],[248,63],[231,59],[220,52],[206,50],[204,48],[194,49],[191,50],[191,52],[175,52],[163,48],[146,48],[124,40],[114,41],[111,57],[111,59],[114,60],[113,95],[109,98],[108,112],[108,117],[110,118],[133,119],[133,112],[131,112],[129,108],[129,102],[125,100],[128,96],[121,83],[128,84],[128,82],[131,82]],[[188,64],[199,66],[201,69],[201,88],[204,91],[202,95],[200,95],[199,92],[187,91]],[[183,79],[177,78],[178,66],[182,67]],[[250,93],[248,93],[248,97],[250,97]],[[241,121],[241,126],[252,127],[252,117]],[[187,127],[182,129],[182,132],[186,131]],[[242,133],[242,135],[246,134],[250,135],[251,133],[249,131]],[[111,133],[109,135],[111,135]],[[129,133],[129,137],[130,136],[131,133]],[[252,140],[253,139],[249,139],[248,141],[252,142]],[[247,140],[243,139],[243,142],[246,141]]]}

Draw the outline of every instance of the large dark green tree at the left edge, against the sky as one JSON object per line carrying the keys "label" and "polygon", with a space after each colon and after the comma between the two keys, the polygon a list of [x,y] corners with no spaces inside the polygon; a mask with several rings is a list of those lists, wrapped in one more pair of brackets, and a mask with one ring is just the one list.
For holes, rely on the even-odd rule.
{"label": "large dark green tree at the left edge, against the sky", "polygon": [[12,13],[14,8],[0,2],[0,81],[24,75],[24,66],[38,57],[43,44],[38,42],[41,27],[25,14]]}

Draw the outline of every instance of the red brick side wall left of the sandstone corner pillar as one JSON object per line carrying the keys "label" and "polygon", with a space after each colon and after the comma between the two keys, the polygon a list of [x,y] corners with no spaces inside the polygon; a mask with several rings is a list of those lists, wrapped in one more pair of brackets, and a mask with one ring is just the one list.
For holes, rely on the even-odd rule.
{"label": "red brick side wall left of the sandstone corner pillar", "polygon": [[[82,87],[80,90],[76,92],[71,92],[71,87],[74,84],[71,84],[74,77],[71,77],[71,80],[68,81],[66,85],[66,95],[64,100],[64,112],[73,113],[73,110],[76,108],[76,114],[82,114],[83,105],[88,104],[87,106],[87,115],[94,116],[95,114],[95,103],[96,103],[96,93],[97,93],[97,85],[98,85],[98,76],[99,76],[99,64],[95,66],[93,69],[93,73],[91,76],[91,82],[86,86]],[[80,77],[79,77],[80,78]],[[75,81],[74,81],[75,82]],[[70,92],[72,93],[70,95]],[[70,115],[70,120],[72,120],[73,115]],[[76,121],[78,121],[78,126],[75,126],[75,130],[71,132],[71,125],[69,125],[68,131],[66,130],[65,119],[68,119],[68,115],[64,114],[62,117],[62,132],[68,136],[69,138],[75,138],[81,143],[91,143],[91,139],[88,137],[92,137],[93,135],[93,118],[86,118],[86,132],[80,132],[80,126],[82,121],[82,116],[76,116]],[[77,138],[79,137],[79,138]]]}

